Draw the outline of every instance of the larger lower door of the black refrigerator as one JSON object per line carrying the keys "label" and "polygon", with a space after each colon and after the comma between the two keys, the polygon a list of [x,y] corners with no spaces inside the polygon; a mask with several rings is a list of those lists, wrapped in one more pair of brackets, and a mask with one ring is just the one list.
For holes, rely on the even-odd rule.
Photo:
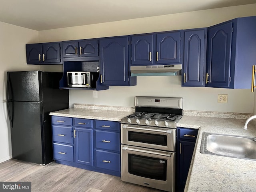
{"label": "larger lower door of the black refrigerator", "polygon": [[41,102],[10,102],[13,113],[11,127],[12,157],[44,164],[44,128]]}

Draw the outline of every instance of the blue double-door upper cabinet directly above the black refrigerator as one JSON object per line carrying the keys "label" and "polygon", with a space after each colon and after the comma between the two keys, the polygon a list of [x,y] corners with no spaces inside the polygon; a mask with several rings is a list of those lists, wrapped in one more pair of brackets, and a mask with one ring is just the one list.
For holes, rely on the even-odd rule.
{"label": "blue double-door upper cabinet directly above the black refrigerator", "polygon": [[26,44],[27,64],[61,64],[60,42]]}

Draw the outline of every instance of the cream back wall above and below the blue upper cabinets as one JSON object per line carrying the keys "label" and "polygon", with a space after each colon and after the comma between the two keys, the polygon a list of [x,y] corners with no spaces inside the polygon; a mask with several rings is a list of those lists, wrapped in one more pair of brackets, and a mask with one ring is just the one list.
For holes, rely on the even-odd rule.
{"label": "cream back wall above and below the blue upper cabinets", "polygon": [[[39,32],[40,42],[100,38],[147,32],[208,27],[236,17],[256,15],[256,4],[186,12],[87,26],[60,28]],[[46,70],[62,70],[61,66],[42,66]],[[153,90],[151,89],[153,88]],[[217,102],[218,94],[228,94],[228,103]],[[178,77],[137,77],[137,86],[110,86],[98,91],[98,98],[91,90],[70,90],[73,103],[134,106],[134,96],[178,96],[184,98],[185,110],[253,113],[254,94],[250,90],[223,88],[181,87]]]}

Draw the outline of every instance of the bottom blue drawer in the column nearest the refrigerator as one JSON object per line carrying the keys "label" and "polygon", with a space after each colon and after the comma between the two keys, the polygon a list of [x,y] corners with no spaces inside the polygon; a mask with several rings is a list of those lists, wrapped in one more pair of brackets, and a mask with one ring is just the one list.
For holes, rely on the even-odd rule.
{"label": "bottom blue drawer in the column nearest the refrigerator", "polygon": [[55,160],[74,162],[74,150],[72,145],[53,144],[53,156]]}

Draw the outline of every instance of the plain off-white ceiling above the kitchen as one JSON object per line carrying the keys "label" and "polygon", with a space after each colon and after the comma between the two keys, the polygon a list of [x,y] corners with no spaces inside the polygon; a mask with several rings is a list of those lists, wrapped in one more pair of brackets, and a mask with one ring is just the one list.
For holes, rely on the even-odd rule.
{"label": "plain off-white ceiling above the kitchen", "polygon": [[253,3],[256,0],[0,0],[0,21],[40,31]]}

